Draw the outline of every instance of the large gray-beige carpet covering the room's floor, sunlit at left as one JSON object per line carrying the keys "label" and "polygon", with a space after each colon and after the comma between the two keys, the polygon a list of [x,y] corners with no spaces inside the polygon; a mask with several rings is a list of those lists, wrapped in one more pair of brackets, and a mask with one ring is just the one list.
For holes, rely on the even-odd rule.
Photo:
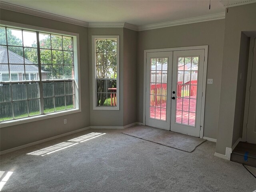
{"label": "large gray-beige carpet covering the room's floor, sunlit at left", "polygon": [[[252,192],[256,189],[256,178],[242,164],[214,156],[214,142],[206,141],[188,153],[122,134],[123,131],[89,129],[1,155],[0,171],[4,172],[0,178],[4,184],[1,192]],[[80,138],[95,132],[101,133],[100,136],[81,142]],[[78,144],[44,156],[36,153],[60,143],[65,146],[64,142]]]}

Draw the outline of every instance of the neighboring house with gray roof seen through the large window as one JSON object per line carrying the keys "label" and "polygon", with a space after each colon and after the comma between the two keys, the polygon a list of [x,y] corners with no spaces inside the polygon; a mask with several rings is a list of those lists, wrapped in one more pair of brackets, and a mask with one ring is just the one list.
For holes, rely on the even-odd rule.
{"label": "neighboring house with gray roof seen through the large window", "polygon": [[[10,74],[11,81],[22,81],[25,80],[39,80],[38,66],[30,60],[19,56],[18,54],[8,50],[9,52],[9,63],[10,63]],[[24,63],[26,64],[24,71]],[[8,56],[5,47],[0,46],[0,81],[9,81],[9,69],[8,69]],[[42,76],[46,76],[48,72],[41,70]]]}

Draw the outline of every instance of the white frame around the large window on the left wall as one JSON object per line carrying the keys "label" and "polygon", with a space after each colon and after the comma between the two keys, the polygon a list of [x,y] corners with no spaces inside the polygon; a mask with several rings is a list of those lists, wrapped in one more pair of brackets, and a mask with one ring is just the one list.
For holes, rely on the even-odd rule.
{"label": "white frame around the large window on the left wall", "polygon": [[4,26],[4,27],[19,28],[23,30],[36,30],[43,33],[53,33],[53,34],[72,36],[73,52],[74,52],[74,74],[75,74],[75,77],[74,77],[75,108],[74,109],[53,112],[48,114],[40,114],[38,116],[30,116],[30,117],[0,122],[0,128],[81,112],[79,34],[60,31],[60,30],[54,30],[49,28],[31,26],[26,24],[20,24],[15,22],[8,22],[3,20],[0,20],[0,23],[1,23],[1,26]]}

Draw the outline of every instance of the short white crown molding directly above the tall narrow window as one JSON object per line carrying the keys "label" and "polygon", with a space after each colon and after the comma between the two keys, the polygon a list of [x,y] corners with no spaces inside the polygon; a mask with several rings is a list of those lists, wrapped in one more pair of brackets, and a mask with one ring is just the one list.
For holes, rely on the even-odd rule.
{"label": "short white crown molding directly above the tall narrow window", "polygon": [[138,27],[130,23],[89,23],[89,28],[127,28],[138,31]]}

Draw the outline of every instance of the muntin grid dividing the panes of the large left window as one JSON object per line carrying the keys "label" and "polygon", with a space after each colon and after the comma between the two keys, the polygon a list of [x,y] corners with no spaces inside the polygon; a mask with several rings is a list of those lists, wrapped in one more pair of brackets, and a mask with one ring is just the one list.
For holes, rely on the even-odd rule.
{"label": "muntin grid dividing the panes of the large left window", "polygon": [[[6,47],[6,51],[7,51],[7,60],[8,60],[8,63],[0,63],[0,64],[8,64],[8,75],[9,75],[9,81],[0,81],[0,85],[2,84],[10,84],[10,92],[11,92],[11,101],[6,101],[6,102],[0,102],[0,104],[2,103],[8,103],[10,102],[11,103],[11,106],[12,106],[12,119],[8,119],[8,120],[13,120],[13,119],[16,119],[14,118],[14,102],[20,102],[20,101],[26,101],[26,104],[27,104],[27,111],[28,111],[28,116],[26,117],[22,117],[22,118],[27,118],[29,117],[29,105],[28,105],[28,101],[29,100],[39,100],[40,102],[40,114],[38,115],[42,115],[44,114],[44,110],[42,108],[43,106],[43,88],[41,88],[42,86],[42,82],[57,82],[57,81],[62,81],[62,82],[66,82],[66,81],[72,81],[73,82],[73,94],[67,94],[67,95],[64,95],[64,100],[65,100],[65,110],[70,110],[70,109],[74,109],[76,108],[76,102],[75,102],[75,95],[76,95],[76,89],[75,89],[75,83],[74,83],[74,78],[75,78],[75,66],[74,66],[74,38],[71,37],[71,36],[68,36],[68,35],[58,35],[58,36],[61,36],[62,37],[62,50],[58,50],[58,51],[62,51],[62,60],[63,60],[63,78],[62,79],[57,79],[57,80],[42,80],[42,74],[41,74],[41,63],[40,63],[40,40],[39,40],[39,31],[36,31],[36,30],[23,30],[23,29],[18,29],[18,28],[15,28],[15,27],[5,27],[5,26],[1,26],[3,28],[5,28],[5,34],[6,34],[6,44],[0,44],[0,46],[5,46]],[[16,29],[16,30],[21,30],[22,32],[22,46],[18,46],[18,45],[9,45],[8,44],[8,36],[7,36],[7,28],[10,28],[10,29]],[[37,38],[37,47],[32,47],[32,46],[24,46],[24,39],[23,39],[23,31],[26,31],[26,32],[36,32],[36,38]],[[52,33],[49,33],[50,35],[52,35]],[[63,46],[63,37],[66,37],[66,38],[71,38],[71,41],[72,41],[72,50],[64,50],[64,46]],[[51,48],[50,50],[55,50],[55,49],[52,49],[52,38],[50,38],[50,41],[51,41]],[[12,64],[10,63],[10,60],[9,60],[9,49],[8,47],[20,47],[22,48],[22,52],[23,52],[23,64],[18,64],[18,63],[15,63],[15,64]],[[11,65],[23,65],[24,66],[24,76],[26,78],[26,68],[25,66],[26,65],[32,65],[32,64],[25,64],[25,54],[24,54],[24,48],[34,48],[37,50],[37,56],[38,56],[38,64],[33,64],[34,66],[38,66],[38,78],[39,80],[21,80],[21,81],[11,81],[11,73],[10,73],[10,64]],[[66,64],[64,65],[64,51],[66,52],[72,52],[72,65],[70,64]],[[52,54],[52,51],[51,51],[51,54]],[[53,65],[53,64],[52,64]],[[72,66],[72,79],[68,78],[68,79],[64,79],[64,66]],[[33,73],[34,74],[34,73]],[[28,75],[30,76],[30,73],[28,73]],[[23,74],[22,74],[23,76]],[[18,75],[18,78],[19,78],[19,75]],[[36,75],[36,78],[37,78],[37,75]],[[39,92],[39,97],[38,98],[33,98],[33,99],[24,99],[24,100],[13,100],[13,90],[12,90],[12,84],[27,84],[27,83],[34,83],[34,82],[38,82],[39,85],[38,85],[38,92]],[[27,86],[26,86],[26,93],[27,93]],[[27,93],[28,94],[28,93]],[[66,108],[66,96],[70,96],[72,95],[73,96],[73,108]],[[55,102],[55,100],[54,100]],[[55,112],[55,104],[54,104],[54,112]],[[47,113],[48,114],[48,113]],[[21,118],[18,118],[18,119],[21,119]],[[1,122],[5,122],[5,121],[8,121],[8,120],[4,120],[4,121],[1,121]]]}

